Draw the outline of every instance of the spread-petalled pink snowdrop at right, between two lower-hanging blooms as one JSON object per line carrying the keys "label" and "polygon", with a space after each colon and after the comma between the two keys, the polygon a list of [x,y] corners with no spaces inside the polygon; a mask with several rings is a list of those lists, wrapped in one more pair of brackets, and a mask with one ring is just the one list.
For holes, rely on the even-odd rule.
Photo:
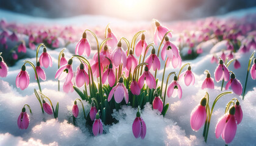
{"label": "spread-petalled pink snowdrop at right, between two lower-hanging blooms", "polygon": [[229,69],[223,64],[223,60],[219,60],[219,66],[215,69],[214,74],[216,82],[219,82],[223,78],[226,82],[229,80]]}

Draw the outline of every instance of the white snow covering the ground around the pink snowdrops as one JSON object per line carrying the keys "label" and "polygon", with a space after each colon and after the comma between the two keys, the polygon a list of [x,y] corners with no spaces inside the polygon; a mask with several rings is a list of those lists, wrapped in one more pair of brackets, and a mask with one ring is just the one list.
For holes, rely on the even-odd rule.
{"label": "white snow covering the ground around the pink snowdrops", "polygon": [[[256,8],[243,10],[242,12],[232,12],[230,15],[225,15],[225,17],[229,18],[231,16],[236,16],[236,14],[243,16],[248,13],[255,14]],[[146,36],[149,36],[149,38],[146,38],[148,43],[152,41],[153,36],[151,22],[130,23],[113,18],[104,18],[102,16],[79,16],[71,19],[65,18],[53,20],[32,18],[30,16],[5,12],[4,10],[0,10],[0,15],[3,16],[7,21],[15,21],[16,23],[23,24],[47,23],[49,25],[71,25],[80,22],[83,24],[82,27],[85,27],[84,29],[87,29],[87,26],[105,27],[107,23],[111,22],[111,26],[118,28],[115,30],[118,38],[125,36],[131,40],[134,33],[129,33],[129,30],[134,31],[134,29],[149,30],[146,32]],[[80,19],[84,19],[84,21],[80,21]],[[77,24],[77,27],[81,26]],[[129,29],[123,30],[121,29],[122,27],[129,27]],[[80,36],[81,33],[82,32],[77,34],[77,36]],[[102,35],[104,34],[104,32],[101,33]],[[175,30],[173,33],[174,37],[179,35],[175,34]],[[66,58],[70,58],[71,55],[74,54],[75,45],[76,43],[72,43],[67,46],[67,49],[65,50]],[[223,47],[226,47],[225,45],[225,43],[218,44],[218,48],[216,48],[216,50],[219,49],[216,52],[217,55],[221,54],[220,50]],[[241,96],[229,94],[219,99],[219,101],[216,103],[210,123],[207,144],[205,144],[202,137],[203,128],[201,128],[199,131],[193,131],[190,127],[191,111],[201,102],[205,92],[207,91],[210,95],[210,106],[212,106],[215,97],[222,92],[221,82],[215,82],[215,89],[201,89],[202,82],[205,78],[205,69],[210,71],[212,77],[214,78],[214,71],[218,66],[216,63],[210,63],[212,54],[209,54],[209,52],[212,47],[213,43],[207,41],[204,45],[202,45],[202,49],[204,50],[203,54],[199,55],[199,57],[194,60],[182,61],[182,64],[188,62],[191,63],[191,71],[194,72],[196,82],[194,85],[190,86],[186,86],[185,83],[180,82],[183,90],[182,99],[172,97],[166,99],[166,103],[168,102],[170,106],[165,117],[158,115],[157,111],[153,111],[151,105],[149,104],[147,104],[146,108],[142,110],[141,117],[143,118],[147,127],[146,137],[143,140],[140,138],[136,139],[132,134],[132,123],[136,117],[137,109],[133,109],[130,106],[123,106],[119,111],[114,111],[113,117],[118,119],[119,122],[113,125],[104,125],[105,133],[101,136],[94,137],[93,134],[91,134],[91,131],[85,127],[85,120],[82,116],[82,112],[79,113],[79,117],[77,119],[77,123],[79,123],[78,126],[75,127],[73,125],[73,101],[74,99],[79,98],[79,96],[76,92],[69,92],[68,94],[63,92],[63,82],[60,82],[61,91],[58,92],[57,79],[54,78],[55,72],[57,71],[58,55],[63,47],[55,50],[48,50],[48,53],[52,56],[53,65],[51,68],[45,69],[47,79],[44,82],[41,81],[43,93],[48,95],[54,105],[59,102],[59,118],[55,120],[51,115],[42,114],[38,100],[35,98],[34,88],[38,89],[38,86],[34,78],[34,71],[30,66],[27,66],[27,71],[30,74],[29,87],[24,91],[21,91],[20,88],[16,88],[15,78],[20,72],[24,60],[35,62],[35,56],[32,58],[21,59],[16,62],[15,66],[9,67],[9,72],[6,78],[0,78],[0,145],[224,145],[224,141],[221,138],[216,139],[215,137],[215,126],[219,117],[224,114],[226,104],[234,97],[240,100],[240,105],[243,109],[243,120],[238,125],[235,139],[233,139],[230,145],[255,145],[256,82],[255,80],[252,80],[250,77],[251,75],[249,75],[248,78],[248,92],[244,97],[244,100],[241,100]],[[240,80],[243,86],[246,78],[247,63],[252,51],[253,50],[245,54],[234,54],[234,56],[241,63],[240,69],[234,69],[233,63],[229,66],[229,70],[235,73],[236,78]],[[40,54],[41,52],[42,50],[40,50]],[[95,51],[93,50],[90,58],[93,56],[94,52]],[[28,54],[35,54],[35,51],[29,50]],[[74,70],[78,64],[79,61],[74,60]],[[162,78],[163,66],[164,62],[161,60],[162,70],[158,71],[158,78]],[[172,67],[169,66],[166,69],[165,81],[167,74],[172,71],[179,72],[179,69],[172,69]],[[169,83],[170,82],[171,81],[169,81]],[[158,83],[158,85],[160,84]],[[224,83],[224,86],[225,85],[226,83]],[[228,91],[231,90],[229,89]],[[17,127],[16,122],[25,103],[29,103],[33,114],[29,114],[29,128],[27,128],[27,130],[20,130]],[[86,102],[84,102],[84,104],[85,113],[87,114],[90,111],[90,105]],[[79,110],[82,111],[80,106]]]}

